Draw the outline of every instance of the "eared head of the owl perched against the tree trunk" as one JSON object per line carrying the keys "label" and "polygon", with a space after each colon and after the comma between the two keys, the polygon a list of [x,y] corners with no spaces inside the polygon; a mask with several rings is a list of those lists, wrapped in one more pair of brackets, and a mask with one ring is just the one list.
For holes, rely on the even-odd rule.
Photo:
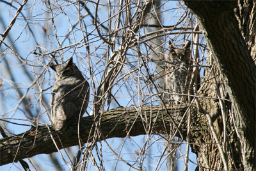
{"label": "eared head of the owl perched against the tree trunk", "polygon": [[169,54],[170,59],[177,59],[179,61],[188,61],[188,60],[190,60],[191,41],[187,41],[182,48],[175,48],[171,41],[170,41],[169,44],[170,44],[170,54]]}

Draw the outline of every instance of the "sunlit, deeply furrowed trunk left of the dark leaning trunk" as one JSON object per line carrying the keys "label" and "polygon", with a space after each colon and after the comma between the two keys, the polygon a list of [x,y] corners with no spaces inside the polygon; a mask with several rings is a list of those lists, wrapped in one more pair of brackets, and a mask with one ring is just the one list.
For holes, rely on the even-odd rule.
{"label": "sunlit, deeply furrowed trunk left of the dark leaning trunk", "polygon": [[[211,54],[209,54],[209,56],[211,56]],[[207,64],[212,65],[211,57],[209,57]],[[212,71],[214,72],[214,75],[211,74]],[[214,78],[217,80],[216,83],[214,82]],[[221,90],[222,98],[228,99],[228,93],[226,92],[225,84],[223,84],[216,66],[213,68],[205,68],[205,77],[202,82],[205,82],[205,85],[199,96],[212,98],[199,98],[199,100],[201,101],[201,105],[204,110],[206,110],[212,117],[214,130],[218,135],[223,151],[227,157],[228,170],[244,170],[243,160],[241,158],[242,154],[239,150],[241,149],[241,145],[236,133],[234,132],[235,128],[232,122],[232,117],[228,112],[231,108],[231,102],[225,100],[223,100],[222,103],[225,108],[224,113],[226,125],[223,124],[223,114],[221,114],[220,101],[216,94],[216,86]],[[203,122],[206,127],[209,127],[207,120]],[[226,131],[225,135],[224,127]],[[205,142],[208,145],[200,144],[200,141],[198,141],[198,144],[191,145],[192,151],[197,154],[197,170],[212,170],[217,168],[220,170],[224,169],[220,151],[218,150],[212,133],[207,131],[202,135],[202,137],[198,137],[198,139],[201,140],[201,143]]]}

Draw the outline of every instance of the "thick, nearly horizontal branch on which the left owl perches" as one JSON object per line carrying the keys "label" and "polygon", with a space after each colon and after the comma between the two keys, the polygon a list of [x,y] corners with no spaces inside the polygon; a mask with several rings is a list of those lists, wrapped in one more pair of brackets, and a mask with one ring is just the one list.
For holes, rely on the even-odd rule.
{"label": "thick, nearly horizontal branch on which the left owl perches", "polygon": [[[100,130],[105,138],[144,135],[148,130],[153,130],[154,133],[168,133],[172,126],[170,115],[175,118],[175,123],[180,123],[187,108],[168,108],[168,112],[162,106],[116,108],[102,115]],[[79,136],[83,143],[92,141],[94,135],[89,135],[89,133],[94,132],[94,123],[94,117],[91,116],[81,119]],[[184,124],[183,130],[180,129],[186,131],[185,127],[186,124]],[[58,151],[56,145],[59,149],[79,145],[77,135],[77,124],[72,123],[58,132],[52,126],[38,126],[25,133],[2,138],[0,140],[0,165],[30,158],[37,154],[56,152]],[[97,140],[99,139],[97,138]],[[54,141],[56,145],[54,145]]]}

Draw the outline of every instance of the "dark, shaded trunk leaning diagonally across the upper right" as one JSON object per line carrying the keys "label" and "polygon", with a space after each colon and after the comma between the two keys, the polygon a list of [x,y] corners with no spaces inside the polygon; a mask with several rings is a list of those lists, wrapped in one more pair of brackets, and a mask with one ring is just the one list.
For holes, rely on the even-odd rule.
{"label": "dark, shaded trunk leaning diagonally across the upper right", "polygon": [[[205,39],[209,43],[218,71],[220,71],[221,80],[223,80],[225,89],[233,103],[236,132],[232,133],[234,135],[232,141],[239,139],[241,149],[237,148],[239,145],[235,145],[236,149],[232,150],[232,156],[233,158],[241,156],[243,168],[253,170],[256,168],[256,67],[235,17],[234,8],[237,6],[237,1],[184,1],[200,22],[200,27],[204,31]],[[200,152],[202,153],[202,151]],[[209,153],[211,152],[209,151]],[[214,156],[212,155],[212,157]],[[211,159],[214,160],[214,158],[207,159],[207,156],[204,159],[209,160],[208,163],[211,163]],[[229,161],[229,163],[232,162],[236,161]],[[200,163],[199,160],[198,164],[204,165],[205,163],[204,161]],[[229,167],[233,168],[234,165]],[[239,167],[239,169],[243,168]]]}

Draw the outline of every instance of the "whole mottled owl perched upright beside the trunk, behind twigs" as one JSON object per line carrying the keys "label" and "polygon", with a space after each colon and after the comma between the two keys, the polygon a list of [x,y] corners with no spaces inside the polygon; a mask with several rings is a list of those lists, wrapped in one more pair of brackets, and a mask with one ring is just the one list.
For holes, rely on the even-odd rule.
{"label": "whole mottled owl perched upright beside the trunk, behind twigs", "polygon": [[186,102],[188,96],[189,82],[191,80],[191,42],[188,41],[182,48],[175,48],[170,43],[170,52],[166,61],[165,84],[170,102]]}

